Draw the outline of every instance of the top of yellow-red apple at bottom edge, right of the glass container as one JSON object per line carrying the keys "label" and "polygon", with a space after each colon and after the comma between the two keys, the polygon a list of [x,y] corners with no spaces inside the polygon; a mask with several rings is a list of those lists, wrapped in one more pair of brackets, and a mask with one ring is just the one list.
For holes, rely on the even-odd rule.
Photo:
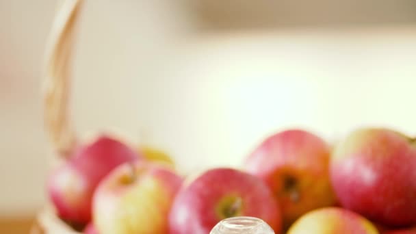
{"label": "top of yellow-red apple at bottom edge, right of the glass container", "polygon": [[338,207],[309,211],[291,225],[287,234],[378,234],[376,227],[358,213]]}

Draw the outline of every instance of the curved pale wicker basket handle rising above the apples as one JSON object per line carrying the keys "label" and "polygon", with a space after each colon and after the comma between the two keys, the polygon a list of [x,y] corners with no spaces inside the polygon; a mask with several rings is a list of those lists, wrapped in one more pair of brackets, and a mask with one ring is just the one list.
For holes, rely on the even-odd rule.
{"label": "curved pale wicker basket handle rising above the apples", "polygon": [[61,157],[69,157],[77,137],[70,124],[70,57],[73,31],[83,0],[64,0],[52,25],[44,66],[44,125],[47,135]]}

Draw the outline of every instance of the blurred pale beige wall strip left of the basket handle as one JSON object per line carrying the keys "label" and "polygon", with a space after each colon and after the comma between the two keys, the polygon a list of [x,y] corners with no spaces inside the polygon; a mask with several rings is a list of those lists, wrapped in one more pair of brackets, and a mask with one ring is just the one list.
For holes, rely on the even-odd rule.
{"label": "blurred pale beige wall strip left of the basket handle", "polygon": [[40,62],[55,3],[0,1],[0,215],[42,202],[47,144]]}

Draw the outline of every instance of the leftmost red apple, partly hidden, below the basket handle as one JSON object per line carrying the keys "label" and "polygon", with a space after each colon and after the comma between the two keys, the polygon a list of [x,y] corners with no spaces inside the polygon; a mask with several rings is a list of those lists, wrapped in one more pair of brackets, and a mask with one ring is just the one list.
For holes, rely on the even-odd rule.
{"label": "leftmost red apple, partly hidden, below the basket handle", "polygon": [[49,176],[47,189],[60,218],[70,224],[88,224],[92,195],[111,170],[140,155],[118,140],[105,135],[80,146],[75,155]]}

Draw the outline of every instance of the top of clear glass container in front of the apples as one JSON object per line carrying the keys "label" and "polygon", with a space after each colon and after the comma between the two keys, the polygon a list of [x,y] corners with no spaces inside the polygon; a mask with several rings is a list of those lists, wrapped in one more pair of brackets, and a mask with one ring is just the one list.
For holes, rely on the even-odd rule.
{"label": "top of clear glass container in front of the apples", "polygon": [[274,234],[274,231],[259,218],[234,217],[218,222],[210,234]]}

